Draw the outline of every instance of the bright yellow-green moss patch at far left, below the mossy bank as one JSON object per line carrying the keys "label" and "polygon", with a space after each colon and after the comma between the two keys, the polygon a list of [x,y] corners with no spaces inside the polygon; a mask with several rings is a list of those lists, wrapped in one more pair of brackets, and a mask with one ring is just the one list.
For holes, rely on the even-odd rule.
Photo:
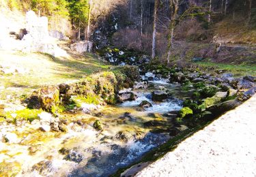
{"label": "bright yellow-green moss patch at far left, below the mossy bank", "polygon": [[[17,111],[10,111],[6,112],[5,116],[6,118],[9,119],[14,119],[15,120],[29,120],[32,122],[35,119],[38,119],[38,114],[40,114],[43,110],[35,110],[35,109],[24,109],[24,110],[17,110]],[[14,116],[14,117],[13,117]]]}

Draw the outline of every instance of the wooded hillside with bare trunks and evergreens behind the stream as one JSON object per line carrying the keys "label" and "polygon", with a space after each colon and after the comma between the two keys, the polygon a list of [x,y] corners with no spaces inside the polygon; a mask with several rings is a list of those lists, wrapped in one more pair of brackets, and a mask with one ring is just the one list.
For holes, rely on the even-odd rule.
{"label": "wooded hillside with bare trunks and evergreens behind the stream", "polygon": [[[256,8],[252,0],[8,0],[12,10],[35,11],[68,28],[72,39],[95,48],[115,46],[169,61],[175,42],[256,43]],[[61,29],[61,27],[59,27]],[[227,39],[227,43],[229,40]],[[176,45],[177,46],[177,45]]]}

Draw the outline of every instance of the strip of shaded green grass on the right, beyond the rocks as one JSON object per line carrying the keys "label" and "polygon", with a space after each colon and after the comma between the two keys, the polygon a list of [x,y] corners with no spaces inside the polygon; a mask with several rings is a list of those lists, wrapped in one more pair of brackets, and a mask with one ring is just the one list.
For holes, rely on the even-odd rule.
{"label": "strip of shaded green grass on the right, beyond the rocks", "polygon": [[229,65],[223,63],[212,63],[210,61],[197,62],[197,65],[203,67],[214,67],[216,69],[225,69],[227,72],[231,72],[235,76],[256,76],[256,65]]}

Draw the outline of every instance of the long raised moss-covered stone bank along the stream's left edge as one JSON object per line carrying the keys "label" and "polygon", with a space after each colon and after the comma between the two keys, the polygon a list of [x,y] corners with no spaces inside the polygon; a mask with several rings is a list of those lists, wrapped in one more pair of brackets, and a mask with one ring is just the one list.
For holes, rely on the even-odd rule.
{"label": "long raised moss-covered stone bank along the stream's left edge", "polygon": [[34,91],[25,102],[31,109],[40,109],[56,114],[65,109],[88,104],[114,104],[116,94],[122,88],[132,87],[139,80],[137,66],[112,67],[109,71],[92,74],[81,82],[44,86]]}

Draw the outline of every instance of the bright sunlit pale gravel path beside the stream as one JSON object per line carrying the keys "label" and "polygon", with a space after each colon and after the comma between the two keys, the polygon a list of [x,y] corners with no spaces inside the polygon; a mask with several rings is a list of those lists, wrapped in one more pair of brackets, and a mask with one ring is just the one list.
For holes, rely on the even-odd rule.
{"label": "bright sunlit pale gravel path beside the stream", "polygon": [[256,176],[256,95],[137,176]]}

